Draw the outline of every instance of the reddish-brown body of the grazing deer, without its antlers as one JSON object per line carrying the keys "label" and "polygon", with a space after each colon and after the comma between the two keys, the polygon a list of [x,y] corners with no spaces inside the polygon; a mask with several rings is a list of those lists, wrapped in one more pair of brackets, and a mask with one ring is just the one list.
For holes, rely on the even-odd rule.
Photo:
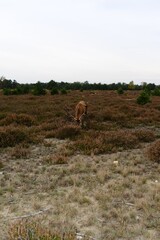
{"label": "reddish-brown body of the grazing deer, without its antlers", "polygon": [[77,123],[83,127],[84,125],[84,118],[87,114],[87,104],[84,101],[80,101],[75,108],[75,120]]}

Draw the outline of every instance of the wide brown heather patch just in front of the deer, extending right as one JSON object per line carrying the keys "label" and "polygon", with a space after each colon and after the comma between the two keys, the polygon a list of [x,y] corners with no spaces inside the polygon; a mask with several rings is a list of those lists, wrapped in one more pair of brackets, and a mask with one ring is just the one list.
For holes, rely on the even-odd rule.
{"label": "wide brown heather patch just in front of the deer, extending right", "polygon": [[137,137],[129,131],[89,131],[70,145],[74,151],[85,154],[103,154],[138,146]]}

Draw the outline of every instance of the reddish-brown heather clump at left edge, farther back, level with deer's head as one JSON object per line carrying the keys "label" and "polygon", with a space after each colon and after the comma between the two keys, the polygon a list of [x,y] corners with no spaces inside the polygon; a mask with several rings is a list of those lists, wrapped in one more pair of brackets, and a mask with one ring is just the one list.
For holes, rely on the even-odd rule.
{"label": "reddish-brown heather clump at left edge, farther back, level with deer's head", "polygon": [[8,114],[0,121],[1,126],[10,125],[13,123],[30,127],[35,124],[35,118],[28,114]]}

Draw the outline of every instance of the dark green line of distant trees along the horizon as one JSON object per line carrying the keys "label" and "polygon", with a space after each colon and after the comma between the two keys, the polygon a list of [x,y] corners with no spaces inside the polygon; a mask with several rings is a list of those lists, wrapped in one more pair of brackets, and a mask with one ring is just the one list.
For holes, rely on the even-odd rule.
{"label": "dark green line of distant trees along the horizon", "polygon": [[[56,82],[55,80],[50,80],[47,83],[42,83],[38,81],[37,83],[18,83],[16,80],[6,79],[5,77],[0,77],[0,89],[3,90],[5,95],[11,94],[27,94],[33,93],[34,95],[43,95],[46,90],[51,91],[51,94],[57,94],[61,92],[62,94],[67,93],[68,90],[117,90],[123,92],[125,90],[143,90],[157,91],[160,94],[160,85],[157,86],[154,83],[142,83],[141,85],[134,84],[133,81],[130,83],[89,83],[85,82]],[[158,89],[158,90],[157,90]]]}

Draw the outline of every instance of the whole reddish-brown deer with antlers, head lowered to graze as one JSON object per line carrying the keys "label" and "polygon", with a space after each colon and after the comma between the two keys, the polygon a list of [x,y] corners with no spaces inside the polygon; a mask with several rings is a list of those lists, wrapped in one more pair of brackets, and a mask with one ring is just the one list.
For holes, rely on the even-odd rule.
{"label": "whole reddish-brown deer with antlers, head lowered to graze", "polygon": [[65,108],[69,120],[74,120],[81,128],[86,127],[88,105],[85,101],[80,101],[75,107],[75,116],[69,113],[69,110]]}

